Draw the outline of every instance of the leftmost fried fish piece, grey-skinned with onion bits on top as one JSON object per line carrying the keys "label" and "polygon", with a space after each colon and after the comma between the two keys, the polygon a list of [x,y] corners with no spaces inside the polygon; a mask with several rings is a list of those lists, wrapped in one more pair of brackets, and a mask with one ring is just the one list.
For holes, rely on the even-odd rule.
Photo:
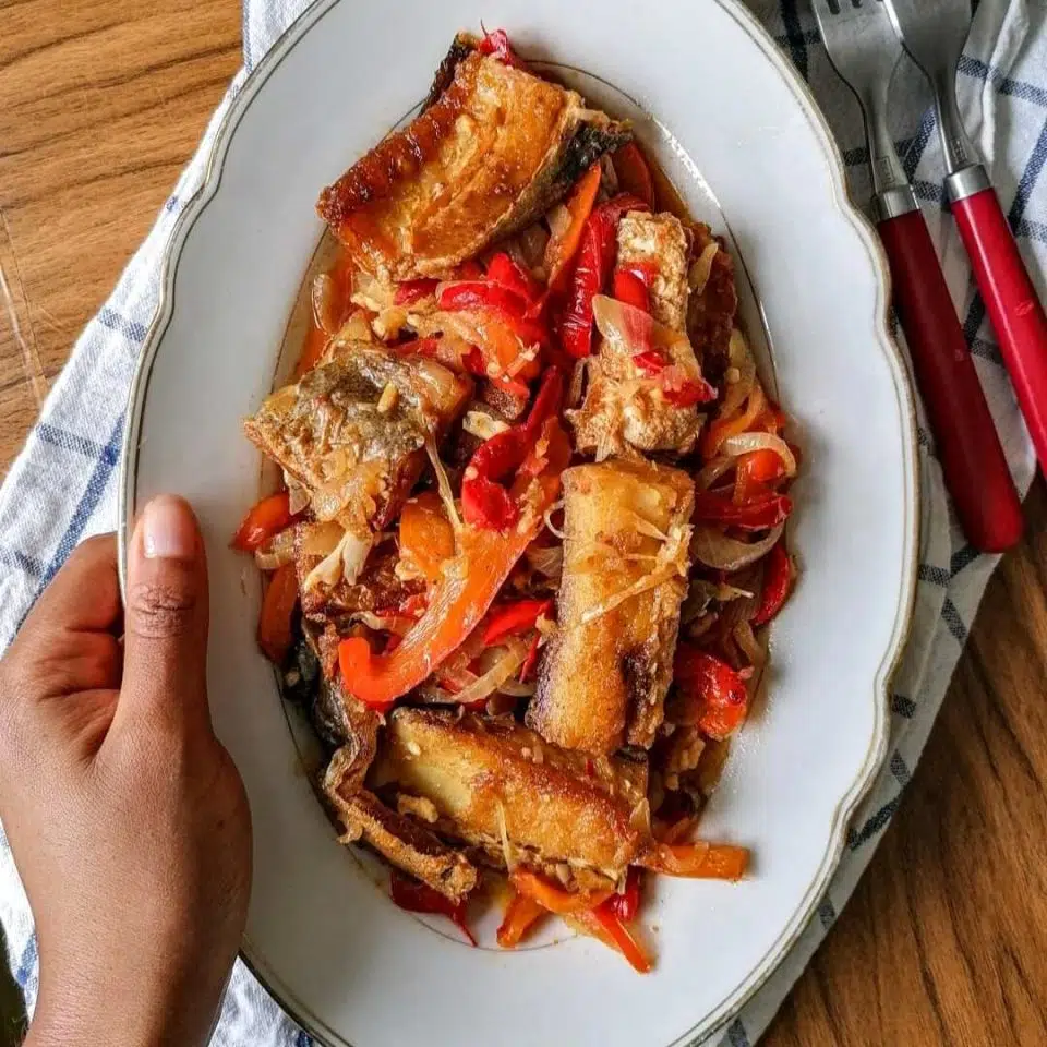
{"label": "leftmost fried fish piece, grey-skinned with onion bits on top", "polygon": [[471,392],[468,376],[435,361],[347,342],[269,396],[243,429],[304,488],[318,520],[365,537],[396,516],[426,442],[443,436]]}

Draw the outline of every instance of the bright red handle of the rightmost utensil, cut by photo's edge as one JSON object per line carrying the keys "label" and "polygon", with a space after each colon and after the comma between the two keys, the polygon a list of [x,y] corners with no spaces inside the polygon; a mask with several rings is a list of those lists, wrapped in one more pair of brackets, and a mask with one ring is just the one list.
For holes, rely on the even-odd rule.
{"label": "bright red handle of the rightmost utensil, cut by photo's edge", "polygon": [[1047,318],[996,192],[953,201],[963,245],[1000,342],[1039,468],[1047,472]]}

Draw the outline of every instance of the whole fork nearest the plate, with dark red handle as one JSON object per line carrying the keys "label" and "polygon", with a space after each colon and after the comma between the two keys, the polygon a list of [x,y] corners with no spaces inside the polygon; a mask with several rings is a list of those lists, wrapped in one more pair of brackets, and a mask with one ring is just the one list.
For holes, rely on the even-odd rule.
{"label": "whole fork nearest the plate, with dark red handle", "polygon": [[930,233],[887,123],[902,46],[880,0],[811,3],[829,59],[862,107],[877,229],[946,484],[967,540],[984,552],[1002,552],[1021,538],[1021,504]]}

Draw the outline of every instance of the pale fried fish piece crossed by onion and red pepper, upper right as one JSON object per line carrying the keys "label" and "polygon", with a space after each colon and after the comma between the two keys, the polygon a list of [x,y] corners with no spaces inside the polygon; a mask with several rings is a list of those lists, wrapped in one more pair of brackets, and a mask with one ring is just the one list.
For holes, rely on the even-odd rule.
{"label": "pale fried fish piece crossed by onion and red pepper, upper right", "polygon": [[[651,314],[679,335],[670,362],[700,373],[695,350],[687,340],[689,286],[687,231],[670,214],[629,212],[618,222],[618,260],[622,268],[642,267],[651,274]],[[695,407],[670,404],[633,362],[634,347],[621,338],[600,338],[589,361],[589,385],[580,408],[567,412],[578,450],[597,461],[612,455],[672,452],[686,455],[701,432],[702,417]]]}

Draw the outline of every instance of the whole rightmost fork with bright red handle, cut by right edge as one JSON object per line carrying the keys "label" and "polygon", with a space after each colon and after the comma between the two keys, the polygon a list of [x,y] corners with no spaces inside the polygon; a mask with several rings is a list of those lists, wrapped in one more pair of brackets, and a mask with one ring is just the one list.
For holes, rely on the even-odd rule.
{"label": "whole rightmost fork with bright red handle, cut by right edge", "polygon": [[949,176],[946,198],[1047,472],[1047,317],[956,106],[956,67],[971,31],[967,0],[887,0],[898,35],[935,89]]}

